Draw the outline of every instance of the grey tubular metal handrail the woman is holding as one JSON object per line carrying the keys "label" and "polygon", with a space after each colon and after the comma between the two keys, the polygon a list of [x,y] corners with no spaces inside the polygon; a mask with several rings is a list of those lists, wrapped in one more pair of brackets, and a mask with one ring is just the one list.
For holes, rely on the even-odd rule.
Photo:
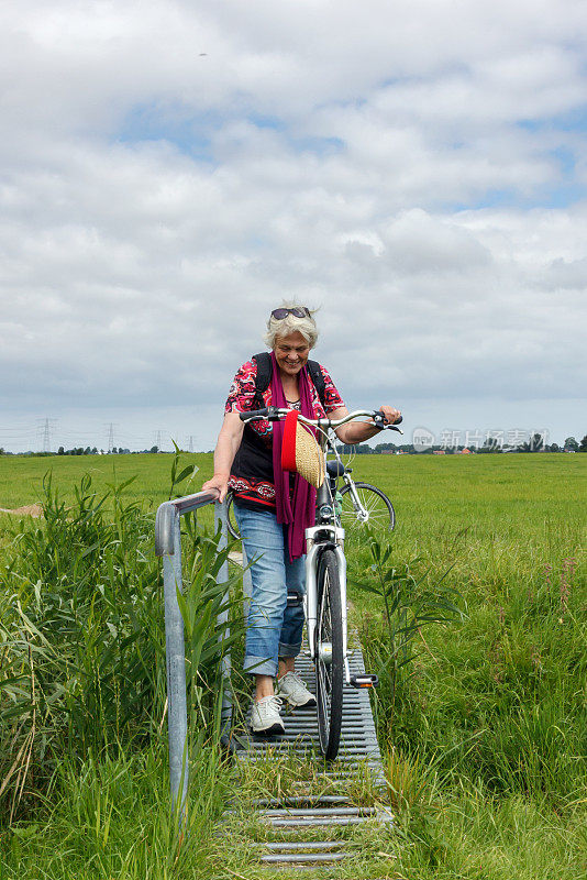
{"label": "grey tubular metal handrail the woman is holding", "polygon": [[[186,694],[186,648],[184,618],[177,602],[177,591],[182,588],[181,579],[181,529],[184,514],[195,513],[200,507],[214,504],[214,525],[220,524],[219,550],[226,547],[226,505],[218,502],[217,492],[197,492],[182,498],[164,502],[155,518],[155,553],[163,557],[163,584],[165,597],[165,653],[167,666],[167,733],[169,740],[169,784],[171,811],[180,823],[186,818],[186,802],[189,780],[188,761],[188,707]],[[225,561],[217,575],[217,583],[226,583],[229,566]],[[228,627],[228,602],[218,618],[219,626]],[[231,672],[230,654],[222,661],[222,676],[228,682]],[[231,722],[232,696],[224,690],[222,702],[223,733]],[[181,793],[179,790],[181,789]]]}

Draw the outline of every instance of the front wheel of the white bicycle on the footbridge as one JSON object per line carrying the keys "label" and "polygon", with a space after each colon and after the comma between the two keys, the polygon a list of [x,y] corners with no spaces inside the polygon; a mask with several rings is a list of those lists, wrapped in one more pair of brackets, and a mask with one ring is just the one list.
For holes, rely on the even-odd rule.
{"label": "front wheel of the white bicycle on the footbridge", "polygon": [[318,562],[315,697],[318,734],[324,758],[333,760],[341,741],[344,660],[339,562],[323,550]]}

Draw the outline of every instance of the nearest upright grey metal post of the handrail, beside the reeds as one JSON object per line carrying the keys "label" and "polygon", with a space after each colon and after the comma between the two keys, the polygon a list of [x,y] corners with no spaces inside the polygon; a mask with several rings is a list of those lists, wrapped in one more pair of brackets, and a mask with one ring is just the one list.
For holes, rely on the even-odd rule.
{"label": "nearest upright grey metal post of the handrail, beside the reeds", "polygon": [[[177,602],[181,590],[181,530],[179,512],[173,509],[171,547],[163,558],[165,594],[165,652],[167,663],[167,732],[169,739],[169,778],[171,811],[182,823],[188,793],[188,706],[186,697],[186,647],[184,618]],[[181,788],[181,793],[179,789]]]}

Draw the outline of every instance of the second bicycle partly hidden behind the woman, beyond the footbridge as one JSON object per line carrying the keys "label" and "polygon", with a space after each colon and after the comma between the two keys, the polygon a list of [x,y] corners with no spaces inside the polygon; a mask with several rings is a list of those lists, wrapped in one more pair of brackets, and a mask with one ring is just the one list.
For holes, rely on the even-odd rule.
{"label": "second bicycle partly hidden behind the woman, beyond the footbridge", "polygon": [[[342,473],[340,473],[336,468],[336,473],[334,474],[333,469],[337,464],[339,454],[330,438],[328,440],[328,449],[330,452],[336,454],[334,461],[326,462],[329,476],[342,476],[344,483],[340,490],[340,518],[343,528],[352,531],[355,528],[361,528],[368,524],[375,528],[387,527],[389,531],[394,531],[396,528],[396,512],[385,492],[381,492],[380,488],[373,486],[370,483],[365,483],[363,481],[355,482],[351,476],[353,469],[347,465],[345,465]],[[226,495],[229,531],[233,538],[240,540],[241,532],[239,531],[239,525],[234,517],[233,501],[234,495],[232,492],[229,492]]]}

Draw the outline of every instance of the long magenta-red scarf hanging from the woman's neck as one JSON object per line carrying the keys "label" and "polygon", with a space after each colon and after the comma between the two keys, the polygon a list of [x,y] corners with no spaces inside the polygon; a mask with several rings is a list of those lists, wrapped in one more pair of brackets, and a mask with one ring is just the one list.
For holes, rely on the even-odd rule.
{"label": "long magenta-red scarf hanging from the woman's neck", "polygon": [[[279,409],[287,408],[286,395],[281,384],[279,365],[272,351],[272,406]],[[312,406],[311,380],[308,367],[304,366],[298,374],[300,392],[301,415],[309,419],[315,418]],[[284,422],[273,422],[273,476],[275,483],[275,507],[277,521],[288,526],[289,559],[294,562],[306,552],[306,529],[315,521],[315,488],[299,474],[295,474],[294,493],[290,496],[289,471],[281,470],[281,442],[284,439]]]}

